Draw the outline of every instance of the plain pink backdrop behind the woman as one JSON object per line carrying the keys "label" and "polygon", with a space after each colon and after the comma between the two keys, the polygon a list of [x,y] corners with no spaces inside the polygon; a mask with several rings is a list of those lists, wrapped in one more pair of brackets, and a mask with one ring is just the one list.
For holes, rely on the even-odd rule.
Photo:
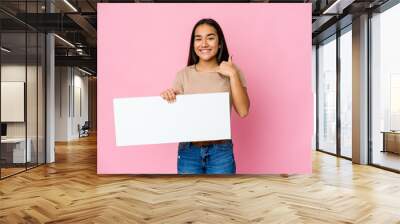
{"label": "plain pink backdrop behind the woman", "polygon": [[232,113],[237,173],[311,172],[311,4],[104,3],[98,4],[99,174],[176,173],[177,144],[116,147],[112,99],[169,88],[186,65],[194,24],[206,17],[221,25],[248,83],[249,115]]}

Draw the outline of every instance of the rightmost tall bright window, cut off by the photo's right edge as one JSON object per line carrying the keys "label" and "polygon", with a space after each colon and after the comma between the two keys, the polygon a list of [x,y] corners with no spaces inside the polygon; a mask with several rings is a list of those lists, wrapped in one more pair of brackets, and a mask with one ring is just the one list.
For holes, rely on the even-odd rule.
{"label": "rightmost tall bright window, cut off by the photo's right edge", "polygon": [[400,170],[400,4],[371,18],[372,163]]}

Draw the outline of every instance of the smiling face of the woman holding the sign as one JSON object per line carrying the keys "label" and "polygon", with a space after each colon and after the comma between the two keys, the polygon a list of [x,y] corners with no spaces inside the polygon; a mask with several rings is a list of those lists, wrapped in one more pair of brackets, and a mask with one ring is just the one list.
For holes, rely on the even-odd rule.
{"label": "smiling face of the woman holding the sign", "polygon": [[194,34],[194,51],[201,61],[216,60],[219,49],[217,31],[208,24],[199,25]]}

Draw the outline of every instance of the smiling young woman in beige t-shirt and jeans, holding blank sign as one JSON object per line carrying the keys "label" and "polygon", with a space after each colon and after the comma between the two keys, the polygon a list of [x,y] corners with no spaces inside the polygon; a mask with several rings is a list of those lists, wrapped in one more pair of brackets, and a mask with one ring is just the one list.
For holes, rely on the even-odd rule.
{"label": "smiling young woman in beige t-shirt and jeans, holding blank sign", "polygon": [[[229,56],[222,29],[213,19],[201,19],[193,27],[187,66],[161,96],[172,103],[177,94],[212,92],[230,92],[231,106],[240,117],[247,116],[246,81]],[[236,173],[232,140],[179,143],[178,173]]]}

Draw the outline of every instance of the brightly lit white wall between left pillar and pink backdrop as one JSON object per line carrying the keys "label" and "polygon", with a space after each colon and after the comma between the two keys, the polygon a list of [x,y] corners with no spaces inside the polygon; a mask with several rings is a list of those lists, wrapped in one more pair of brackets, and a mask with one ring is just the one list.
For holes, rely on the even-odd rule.
{"label": "brightly lit white wall between left pillar and pink backdrop", "polygon": [[72,67],[56,67],[55,73],[55,140],[77,139],[78,124],[88,120],[88,77]]}

